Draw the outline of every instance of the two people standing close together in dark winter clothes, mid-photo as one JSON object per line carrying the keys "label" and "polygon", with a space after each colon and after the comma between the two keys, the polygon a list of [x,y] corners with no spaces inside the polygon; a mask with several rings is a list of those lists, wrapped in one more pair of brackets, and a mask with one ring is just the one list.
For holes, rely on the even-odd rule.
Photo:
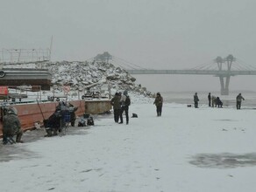
{"label": "two people standing close together in dark winter clothes, mid-photo", "polygon": [[[129,124],[129,106],[131,105],[131,99],[128,92],[125,90],[122,94],[121,92],[116,93],[111,99],[111,105],[114,110],[114,120],[116,123],[123,124],[123,113],[125,113],[126,125]],[[119,121],[120,120],[120,121]]]}

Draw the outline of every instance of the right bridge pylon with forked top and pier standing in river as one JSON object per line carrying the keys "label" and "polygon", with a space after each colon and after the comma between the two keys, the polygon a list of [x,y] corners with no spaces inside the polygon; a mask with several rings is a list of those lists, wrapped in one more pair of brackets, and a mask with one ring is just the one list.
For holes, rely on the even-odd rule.
{"label": "right bridge pylon with forked top and pier standing in river", "polygon": [[[215,59],[218,67],[218,71],[226,71],[225,74],[217,75],[219,77],[221,90],[221,95],[229,95],[229,86],[230,86],[230,80],[231,80],[231,65],[232,62],[235,61],[236,58],[234,58],[232,55],[229,55],[226,58],[217,57]],[[223,64],[226,63],[226,69],[224,69]]]}

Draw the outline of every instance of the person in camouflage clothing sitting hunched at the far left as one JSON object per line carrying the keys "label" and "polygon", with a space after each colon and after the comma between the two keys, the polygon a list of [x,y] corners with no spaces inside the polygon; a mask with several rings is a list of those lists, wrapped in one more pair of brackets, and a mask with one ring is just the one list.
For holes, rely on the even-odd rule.
{"label": "person in camouflage clothing sitting hunched at the far left", "polygon": [[17,109],[10,107],[3,119],[3,144],[7,144],[8,138],[16,135],[16,142],[21,141],[23,130],[21,129],[20,121],[18,120]]}

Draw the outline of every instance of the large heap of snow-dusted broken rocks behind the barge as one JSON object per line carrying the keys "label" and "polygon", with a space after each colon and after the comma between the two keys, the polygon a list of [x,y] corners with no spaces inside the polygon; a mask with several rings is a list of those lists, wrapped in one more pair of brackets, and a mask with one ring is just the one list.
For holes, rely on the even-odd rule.
{"label": "large heap of snow-dusted broken rocks behind the barge", "polygon": [[53,74],[52,83],[56,89],[63,85],[68,85],[71,90],[93,91],[98,93],[115,93],[117,91],[128,90],[130,92],[141,93],[145,96],[152,96],[135,83],[128,72],[119,66],[104,62],[88,61],[61,61],[51,62],[44,65]]}

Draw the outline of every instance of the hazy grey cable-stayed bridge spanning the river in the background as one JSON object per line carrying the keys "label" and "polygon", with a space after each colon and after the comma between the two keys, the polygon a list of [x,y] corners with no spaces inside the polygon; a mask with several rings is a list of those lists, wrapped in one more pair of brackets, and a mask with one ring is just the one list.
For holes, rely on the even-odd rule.
{"label": "hazy grey cable-stayed bridge spanning the river in the background", "polygon": [[256,75],[256,67],[247,65],[245,62],[234,58],[232,55],[226,58],[217,57],[213,63],[208,65],[198,65],[192,69],[184,70],[156,70],[146,69],[139,65],[133,65],[130,62],[124,61],[122,58],[111,56],[113,61],[116,61],[117,65],[123,63],[124,69],[131,74],[181,74],[181,75],[212,75],[219,79],[221,86],[221,94],[229,94],[229,86],[231,76],[237,75]]}

